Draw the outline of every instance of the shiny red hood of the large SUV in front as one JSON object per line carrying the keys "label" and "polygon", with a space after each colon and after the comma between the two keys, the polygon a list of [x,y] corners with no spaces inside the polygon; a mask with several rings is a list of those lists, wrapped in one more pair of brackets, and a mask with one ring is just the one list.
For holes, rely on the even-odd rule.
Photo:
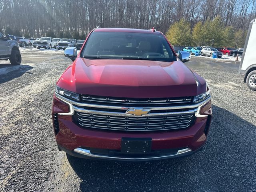
{"label": "shiny red hood of the large SUV in front", "polygon": [[180,61],[77,58],[57,85],[80,94],[126,98],[196,96],[206,91],[205,80]]}

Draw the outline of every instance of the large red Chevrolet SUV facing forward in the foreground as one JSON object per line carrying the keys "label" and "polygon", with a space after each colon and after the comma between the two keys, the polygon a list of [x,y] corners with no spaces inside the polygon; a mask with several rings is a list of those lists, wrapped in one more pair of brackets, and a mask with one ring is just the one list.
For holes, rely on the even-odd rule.
{"label": "large red Chevrolet SUV facing forward in the foreground", "polygon": [[154,29],[96,28],[57,82],[52,105],[59,150],[81,158],[149,161],[202,149],[210,88]]}

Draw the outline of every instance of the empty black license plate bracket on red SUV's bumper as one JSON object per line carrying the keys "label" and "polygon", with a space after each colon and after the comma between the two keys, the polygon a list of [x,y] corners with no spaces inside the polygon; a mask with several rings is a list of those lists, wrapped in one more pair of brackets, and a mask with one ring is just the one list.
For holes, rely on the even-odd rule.
{"label": "empty black license plate bracket on red SUV's bumper", "polygon": [[146,154],[151,152],[152,138],[127,138],[121,140],[121,152],[126,154]]}

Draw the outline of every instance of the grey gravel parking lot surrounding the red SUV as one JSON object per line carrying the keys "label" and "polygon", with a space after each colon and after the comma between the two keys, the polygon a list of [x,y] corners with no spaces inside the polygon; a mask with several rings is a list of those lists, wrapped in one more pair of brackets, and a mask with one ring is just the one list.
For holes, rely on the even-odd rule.
{"label": "grey gravel parking lot surrounding the red SUV", "polygon": [[213,120],[197,154],[149,163],[101,162],[59,152],[52,129],[55,83],[71,64],[63,51],[22,50],[0,60],[0,191],[256,191],[256,92],[239,61],[192,57],[211,87]]}

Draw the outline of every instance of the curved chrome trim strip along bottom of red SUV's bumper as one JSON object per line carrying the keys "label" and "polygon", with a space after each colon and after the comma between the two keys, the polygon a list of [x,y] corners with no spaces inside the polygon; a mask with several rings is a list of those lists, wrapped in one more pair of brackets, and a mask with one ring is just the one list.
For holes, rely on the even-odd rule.
{"label": "curved chrome trim strip along bottom of red SUV's bumper", "polygon": [[192,150],[190,148],[185,148],[182,150],[178,150],[176,154],[156,156],[156,157],[145,157],[145,158],[111,157],[111,156],[105,156],[105,155],[99,155],[99,154],[91,154],[90,150],[83,149],[83,148],[76,148],[74,149],[74,152],[85,155],[85,156],[89,156],[92,158],[102,158],[102,159],[110,159],[110,160],[158,160],[162,158],[178,157],[181,154],[192,152]]}

